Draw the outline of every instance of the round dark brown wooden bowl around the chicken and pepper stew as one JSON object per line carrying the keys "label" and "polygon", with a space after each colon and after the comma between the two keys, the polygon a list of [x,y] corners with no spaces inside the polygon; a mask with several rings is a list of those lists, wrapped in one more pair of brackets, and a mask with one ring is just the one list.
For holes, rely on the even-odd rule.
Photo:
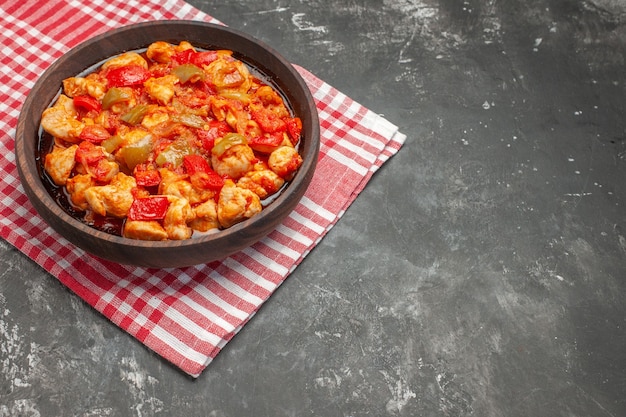
{"label": "round dark brown wooden bowl around the chicken and pepper stew", "polygon": [[[163,40],[182,40],[207,49],[230,49],[242,61],[261,71],[282,91],[302,119],[299,152],[303,163],[282,193],[261,213],[214,234],[182,241],[132,240],[98,231],[68,214],[44,186],[36,160],[41,114],[56,98],[62,80],[80,74],[106,58],[146,48]],[[319,120],[315,102],[294,67],[274,49],[253,37],[210,23],[154,21],[134,24],[98,35],[71,49],[35,83],[19,116],[15,153],[22,185],[41,217],[79,248],[122,264],[154,268],[184,267],[225,258],[267,235],[296,207],[306,191],[319,153]]]}

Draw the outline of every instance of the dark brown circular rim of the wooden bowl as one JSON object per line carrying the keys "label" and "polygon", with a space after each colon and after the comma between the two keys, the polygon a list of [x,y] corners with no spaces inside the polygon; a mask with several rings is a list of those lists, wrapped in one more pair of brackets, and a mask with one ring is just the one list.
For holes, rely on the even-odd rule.
{"label": "dark brown circular rim of the wooden bowl", "polygon": [[[129,31],[136,31],[144,27],[154,26],[154,25],[163,25],[164,29],[174,28],[174,27],[184,28],[184,27],[189,27],[189,26],[199,26],[203,28],[208,28],[210,30],[219,30],[222,32],[226,32],[229,36],[238,37],[246,42],[252,42],[252,43],[258,44],[264,50],[269,52],[269,54],[272,55],[273,59],[278,60],[282,66],[288,69],[289,73],[295,78],[295,81],[298,87],[302,90],[302,92],[304,93],[306,97],[307,108],[315,110],[315,111],[310,112],[311,113],[310,116],[312,118],[312,121],[311,121],[312,131],[311,131],[310,137],[306,137],[305,139],[306,141],[308,141],[307,146],[312,146],[312,149],[311,149],[312,152],[310,152],[311,155],[308,158],[304,159],[295,177],[292,180],[290,180],[287,187],[288,189],[290,188],[294,190],[298,190],[301,187],[305,187],[306,189],[308,187],[311,181],[311,177],[313,176],[313,171],[315,170],[315,166],[317,164],[317,159],[318,159],[318,152],[319,152],[319,146],[320,146],[319,117],[318,117],[317,108],[315,105],[313,95],[311,91],[309,90],[306,82],[304,81],[302,76],[298,73],[298,71],[294,68],[294,66],[286,58],[284,58],[282,54],[280,54],[274,48],[266,44],[264,41],[259,40],[245,32],[232,29],[221,24],[203,22],[203,21],[194,21],[194,20],[153,20],[153,21],[146,21],[146,22],[125,25],[119,28],[108,30],[99,35],[95,35],[94,37],[70,48],[60,58],[58,58],[55,62],[53,62],[38,77],[37,81],[31,88],[30,92],[28,93],[26,97],[26,100],[23,103],[22,110],[20,110],[20,114],[18,117],[18,124],[16,127],[16,135],[15,135],[16,165],[18,168],[21,181],[23,183],[25,182],[28,184],[28,187],[24,187],[24,188],[26,190],[27,196],[29,197],[29,200],[31,201],[31,204],[39,213],[40,209],[38,205],[35,204],[35,202],[33,201],[34,199],[39,200],[41,204],[45,205],[45,209],[48,210],[50,214],[52,214],[53,216],[55,216],[57,219],[64,222],[65,224],[67,224],[68,227],[76,229],[83,234],[89,235],[91,236],[91,238],[100,239],[110,244],[119,245],[120,247],[145,248],[146,250],[167,249],[171,247],[179,247],[179,248],[193,247],[196,245],[208,244],[211,242],[218,243],[221,241],[226,241],[227,239],[236,239],[236,238],[245,237],[246,228],[248,226],[250,226],[251,224],[262,224],[263,222],[271,218],[275,212],[279,211],[281,207],[284,207],[285,204],[292,206],[292,208],[289,209],[287,214],[282,216],[283,218],[286,217],[293,209],[295,209],[298,201],[301,198],[301,196],[299,196],[297,197],[297,201],[295,202],[292,201],[296,197],[292,195],[293,193],[287,193],[286,192],[287,189],[283,190],[283,192],[281,192],[280,195],[278,195],[275,198],[275,200],[273,200],[271,204],[265,207],[259,214],[253,216],[250,219],[237,223],[229,227],[228,229],[223,229],[218,232],[203,234],[201,236],[192,237],[190,239],[185,239],[185,240],[164,240],[164,241],[135,240],[135,239],[130,239],[130,238],[110,234],[108,232],[100,231],[81,222],[80,220],[74,218],[69,213],[67,213],[54,200],[54,198],[50,195],[50,193],[45,189],[41,176],[39,175],[38,170],[37,170],[38,162],[36,161],[35,156],[26,154],[25,146],[26,146],[26,141],[29,139],[24,137],[25,135],[24,131],[26,130],[25,125],[27,123],[26,119],[28,116],[28,114],[24,111],[24,109],[26,110],[30,109],[32,106],[32,103],[39,98],[38,93],[43,87],[45,75],[57,71],[59,68],[62,68],[67,62],[74,59],[75,56],[79,56],[86,49],[94,47],[98,43],[102,42],[103,40],[106,40],[107,38],[113,35],[124,34]],[[167,35],[164,36],[164,38],[167,38],[167,37],[168,37]],[[161,39],[154,39],[153,41],[157,41],[157,40],[161,40]],[[182,40],[185,40],[185,39],[179,39],[179,41],[182,41]],[[138,48],[120,48],[119,52],[117,53],[122,53],[122,52],[133,50],[133,49],[140,49],[142,47],[147,47],[147,45],[139,46]],[[234,51],[234,52],[238,53],[238,51]],[[113,56],[113,55],[109,55],[109,56]],[[106,59],[106,57],[104,59]],[[245,55],[243,56],[243,60],[245,62]],[[250,59],[250,61],[254,62],[253,59]],[[84,65],[84,69],[88,69],[95,64],[96,63],[86,63]],[[73,76],[73,75],[75,74],[72,74],[70,76]],[[59,84],[59,89],[60,89],[60,84]],[[53,97],[51,101],[54,100],[55,97]],[[48,106],[51,103],[51,101],[48,102],[46,106]],[[39,127],[36,127],[35,130],[36,130],[36,135],[38,135],[37,132],[39,131]],[[35,149],[37,149],[37,147],[38,147],[38,144],[35,144]],[[32,175],[27,175],[28,172],[30,172]],[[304,191],[302,192],[302,194],[304,194]],[[39,213],[39,215],[42,218],[44,218],[46,223],[51,225],[53,229],[56,229],[55,225],[48,222],[45,216],[43,216],[41,213]],[[268,230],[266,233],[264,233],[264,235],[269,233],[270,231],[271,229]],[[75,241],[73,241],[72,239],[66,236],[64,237],[68,239],[70,242],[75,243]],[[259,237],[259,239],[260,238],[262,238],[262,236]],[[254,241],[251,241],[248,243],[248,245],[253,244],[253,243]],[[80,245],[77,245],[77,246],[80,246]],[[95,255],[98,256],[98,254],[95,254]]]}

